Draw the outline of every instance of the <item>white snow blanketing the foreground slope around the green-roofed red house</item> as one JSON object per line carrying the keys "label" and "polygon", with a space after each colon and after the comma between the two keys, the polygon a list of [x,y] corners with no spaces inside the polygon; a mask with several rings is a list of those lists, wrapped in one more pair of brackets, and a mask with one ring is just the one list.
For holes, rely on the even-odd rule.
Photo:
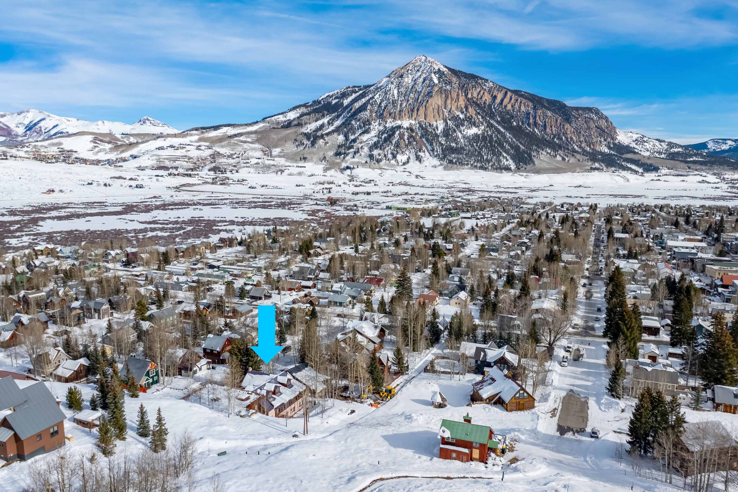
{"label": "white snow blanketing the foreground slope around the green-roofed red house", "polygon": [[[575,342],[587,344],[587,340]],[[146,446],[146,441],[135,434],[137,407],[143,403],[149,415],[162,408],[170,436],[185,429],[196,435],[199,467],[195,478],[202,487],[196,490],[207,490],[208,480],[216,473],[221,474],[227,491],[240,490],[245,483],[258,484],[254,490],[259,491],[359,491],[376,479],[382,481],[367,490],[439,491],[463,485],[482,491],[502,486],[503,471],[504,486],[512,491],[626,491],[632,485],[639,491],[676,490],[633,476],[630,466],[619,465],[615,459],[616,444],[626,439],[623,432],[629,412],[621,409],[632,406],[632,401],[618,402],[605,394],[605,350],[603,343],[593,344],[584,361],[560,367],[559,348],[551,364],[551,390],[539,395],[533,410],[505,412],[498,406],[466,406],[470,383],[478,376],[450,378],[416,372],[414,378],[401,383],[396,398],[378,409],[341,401],[328,401],[325,408],[317,406],[311,414],[307,436],[302,434],[301,418],[229,417],[199,404],[197,398],[179,399],[184,393],[182,389],[161,389],[138,399],[125,399],[128,439],[118,444],[118,452]],[[7,358],[0,361],[7,367]],[[61,399],[69,386],[46,384]],[[94,387],[80,387],[89,399]],[[590,396],[590,426],[601,430],[601,439],[593,440],[585,434],[562,437],[556,432],[554,410],[568,389]],[[430,395],[435,390],[448,399],[446,409],[430,405]],[[350,415],[352,409],[355,412]],[[72,412],[66,408],[64,412],[69,417],[65,422],[66,434],[74,437],[66,450],[92,453],[94,432],[76,426]],[[492,426],[495,433],[508,436],[514,451],[489,465],[439,459],[441,419],[461,420],[467,412],[474,423]],[[687,411],[690,421],[730,417],[734,416]],[[227,454],[219,457],[221,451]],[[513,458],[517,462],[510,464]],[[39,459],[43,458],[36,458]],[[22,490],[27,465],[16,462],[0,470],[4,491]]]}

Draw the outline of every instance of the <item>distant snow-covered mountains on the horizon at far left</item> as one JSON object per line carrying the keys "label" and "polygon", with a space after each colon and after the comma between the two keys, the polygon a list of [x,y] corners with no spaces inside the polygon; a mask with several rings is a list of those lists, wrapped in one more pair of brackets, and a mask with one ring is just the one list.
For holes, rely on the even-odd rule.
{"label": "distant snow-covered mountains on the horizon at far left", "polygon": [[143,117],[133,125],[128,125],[117,121],[86,121],[58,117],[38,109],[0,113],[0,144],[38,142],[55,136],[77,134],[80,131],[117,135],[179,133],[169,125],[149,117]]}

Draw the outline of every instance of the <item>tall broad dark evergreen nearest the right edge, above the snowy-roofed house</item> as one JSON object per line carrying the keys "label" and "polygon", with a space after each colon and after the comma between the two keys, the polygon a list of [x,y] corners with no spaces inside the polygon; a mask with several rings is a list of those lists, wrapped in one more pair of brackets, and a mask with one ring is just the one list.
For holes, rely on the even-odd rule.
{"label": "tall broad dark evergreen nearest the right edge, above the snowy-roofed house", "polygon": [[712,333],[706,336],[706,346],[703,353],[702,379],[706,387],[715,384],[735,386],[736,377],[736,349],[733,337],[725,327],[725,314],[718,311],[712,317]]}

